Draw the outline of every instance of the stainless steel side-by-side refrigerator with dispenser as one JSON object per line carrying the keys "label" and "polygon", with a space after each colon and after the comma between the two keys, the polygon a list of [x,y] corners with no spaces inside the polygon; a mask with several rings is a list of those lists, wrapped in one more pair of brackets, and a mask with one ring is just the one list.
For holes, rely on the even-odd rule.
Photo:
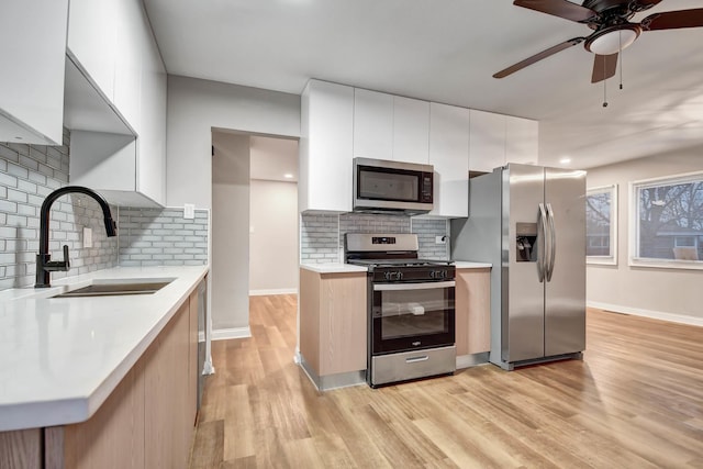
{"label": "stainless steel side-by-side refrigerator with dispenser", "polygon": [[585,348],[585,171],[509,164],[469,181],[451,258],[491,263],[489,360],[514,367]]}

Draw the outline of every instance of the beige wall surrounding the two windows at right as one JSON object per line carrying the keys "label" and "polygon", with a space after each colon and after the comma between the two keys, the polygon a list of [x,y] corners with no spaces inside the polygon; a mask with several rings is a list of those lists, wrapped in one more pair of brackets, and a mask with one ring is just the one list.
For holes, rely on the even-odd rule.
{"label": "beige wall surrounding the two windows at right", "polygon": [[703,147],[592,168],[588,187],[617,185],[617,266],[587,267],[589,305],[703,325],[703,270],[629,267],[631,181],[703,169]]}

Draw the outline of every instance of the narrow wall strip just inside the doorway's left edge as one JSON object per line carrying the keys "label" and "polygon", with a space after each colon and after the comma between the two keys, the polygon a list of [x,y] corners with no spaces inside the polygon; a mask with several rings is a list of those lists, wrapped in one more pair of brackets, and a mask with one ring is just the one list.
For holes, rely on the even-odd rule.
{"label": "narrow wall strip just inside the doorway's left edge", "polygon": [[247,336],[249,326],[249,137],[212,133],[212,326]]}

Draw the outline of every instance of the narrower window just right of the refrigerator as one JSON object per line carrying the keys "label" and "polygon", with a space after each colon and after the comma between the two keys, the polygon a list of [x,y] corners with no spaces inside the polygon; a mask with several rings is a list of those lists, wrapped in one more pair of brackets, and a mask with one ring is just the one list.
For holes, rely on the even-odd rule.
{"label": "narrower window just right of the refrigerator", "polygon": [[617,186],[588,190],[585,239],[588,264],[617,264]]}

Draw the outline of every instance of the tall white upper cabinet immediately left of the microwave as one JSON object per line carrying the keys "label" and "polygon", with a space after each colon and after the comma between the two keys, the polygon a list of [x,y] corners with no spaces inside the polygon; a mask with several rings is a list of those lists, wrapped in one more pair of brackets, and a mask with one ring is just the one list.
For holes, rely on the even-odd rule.
{"label": "tall white upper cabinet immediately left of the microwave", "polygon": [[[310,80],[301,97],[299,211],[352,211],[355,90]],[[365,155],[368,157],[368,155]]]}

